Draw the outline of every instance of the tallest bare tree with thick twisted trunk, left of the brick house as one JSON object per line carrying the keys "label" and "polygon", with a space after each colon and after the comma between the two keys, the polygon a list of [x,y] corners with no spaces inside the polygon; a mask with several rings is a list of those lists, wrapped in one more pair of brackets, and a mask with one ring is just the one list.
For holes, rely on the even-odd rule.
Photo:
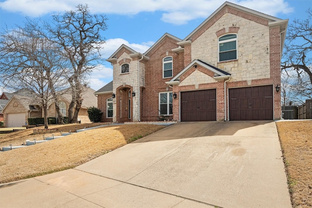
{"label": "tallest bare tree with thick twisted trunk, left of the brick house", "polygon": [[45,27],[53,36],[53,41],[62,47],[63,56],[70,62],[67,72],[71,86],[72,100],[68,109],[70,123],[76,123],[82,103],[83,86],[102,58],[99,50],[105,38],[100,31],[107,29],[107,18],[103,15],[91,15],[87,5],[79,4],[75,11],[66,11],[64,15],[54,15],[53,21],[45,22]]}

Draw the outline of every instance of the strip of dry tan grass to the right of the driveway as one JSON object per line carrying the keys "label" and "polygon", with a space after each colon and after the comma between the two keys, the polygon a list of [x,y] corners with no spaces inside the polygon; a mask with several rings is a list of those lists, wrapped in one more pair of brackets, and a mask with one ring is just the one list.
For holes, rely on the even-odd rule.
{"label": "strip of dry tan grass to the right of the driveway", "polygon": [[295,208],[312,207],[312,121],[277,122]]}

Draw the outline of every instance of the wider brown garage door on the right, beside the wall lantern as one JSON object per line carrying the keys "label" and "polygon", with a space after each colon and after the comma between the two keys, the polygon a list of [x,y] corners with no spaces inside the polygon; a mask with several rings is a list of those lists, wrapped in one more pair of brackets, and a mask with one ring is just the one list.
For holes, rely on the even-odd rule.
{"label": "wider brown garage door on the right, beside the wall lantern", "polygon": [[273,120],[273,86],[229,89],[230,120]]}

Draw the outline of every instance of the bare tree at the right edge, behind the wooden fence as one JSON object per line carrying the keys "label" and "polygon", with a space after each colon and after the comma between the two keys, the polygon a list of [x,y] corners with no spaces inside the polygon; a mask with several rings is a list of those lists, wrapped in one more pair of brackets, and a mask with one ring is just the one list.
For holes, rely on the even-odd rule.
{"label": "bare tree at the right edge, behind the wooden fence", "polygon": [[293,90],[302,99],[312,96],[312,10],[308,9],[308,19],[293,20],[288,27],[282,70],[296,72]]}

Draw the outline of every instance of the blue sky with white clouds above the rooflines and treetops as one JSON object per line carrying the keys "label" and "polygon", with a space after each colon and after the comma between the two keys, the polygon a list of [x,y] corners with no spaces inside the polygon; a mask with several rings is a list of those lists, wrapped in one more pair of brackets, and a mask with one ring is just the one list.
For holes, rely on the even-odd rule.
{"label": "blue sky with white clouds above the rooflines and treetops", "polygon": [[[307,19],[312,0],[228,0],[232,3],[280,19]],[[162,35],[169,33],[185,38],[207,19],[224,1],[221,0],[0,0],[0,30],[23,26],[25,17],[49,19],[51,14],[74,10],[87,2],[91,13],[104,14],[108,29],[102,51],[110,57],[121,44],[144,53]],[[109,62],[94,71],[90,86],[98,90],[113,79]],[[5,89],[0,89],[0,94]]]}

